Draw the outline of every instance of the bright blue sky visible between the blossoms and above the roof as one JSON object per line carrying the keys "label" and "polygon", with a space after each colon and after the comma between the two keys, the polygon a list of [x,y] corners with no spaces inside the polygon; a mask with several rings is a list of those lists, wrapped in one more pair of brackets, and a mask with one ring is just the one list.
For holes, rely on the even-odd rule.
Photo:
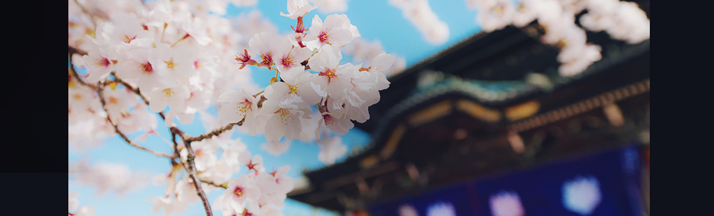
{"label": "bright blue sky visible between the blossoms and above the roof", "polygon": [[[362,38],[367,41],[381,41],[384,50],[387,53],[393,53],[398,56],[403,56],[406,59],[406,65],[411,66],[418,61],[427,58],[438,51],[453,45],[464,38],[476,34],[480,28],[476,25],[476,11],[466,8],[464,1],[429,1],[431,8],[438,15],[439,19],[446,22],[449,26],[449,38],[446,43],[440,45],[432,45],[423,40],[423,37],[418,32],[415,26],[403,18],[401,11],[391,6],[387,0],[383,1],[348,1],[348,10],[343,14],[347,14],[351,23],[358,27]],[[260,0],[256,6],[236,8],[229,6],[226,16],[236,16],[242,12],[251,10],[259,10],[263,17],[270,20],[278,27],[280,33],[288,33],[291,31],[290,25],[294,25],[295,21],[286,17],[280,16],[280,12],[287,12],[286,1],[275,0]],[[324,19],[328,14],[321,14],[318,10],[311,11],[307,17],[312,17],[314,14],[319,14]],[[309,26],[311,19],[305,19],[306,26]],[[253,79],[262,87],[267,86],[268,80],[274,74],[261,71],[259,68],[251,68],[253,71]],[[211,109],[211,113],[217,113],[216,108]],[[156,116],[156,118],[159,118]],[[193,123],[189,125],[179,125],[184,131],[191,135],[203,133],[203,126],[200,123],[200,118],[196,116]],[[159,133],[165,138],[170,138],[168,129],[159,120]],[[130,135],[131,138],[138,134]],[[243,143],[248,145],[248,150],[253,155],[259,154],[263,156],[265,167],[279,168],[283,165],[291,165],[289,176],[297,178],[301,175],[303,169],[315,169],[324,166],[317,159],[319,148],[314,143],[302,143],[293,141],[293,145],[286,153],[279,157],[270,155],[260,148],[266,139],[258,135],[250,137],[247,135],[233,135],[235,138],[241,138]],[[348,146],[348,151],[353,148],[361,148],[370,140],[370,136],[361,130],[353,129],[347,135],[343,136],[343,142]],[[159,150],[170,153],[169,145],[166,145],[163,140],[151,136],[145,143],[141,143],[146,148]],[[119,136],[108,138],[106,142],[99,148],[92,148],[84,152],[77,152],[73,148],[69,148],[69,162],[79,162],[81,158],[89,160],[90,164],[101,162],[106,163],[121,163],[129,166],[132,172],[147,173],[151,178],[161,173],[166,173],[169,169],[169,161],[165,158],[159,158],[149,153],[136,150],[124,143]],[[338,158],[338,161],[344,160]],[[151,185],[143,187],[141,190],[134,190],[119,197],[114,192],[108,192],[104,195],[96,195],[96,188],[79,185],[73,178],[69,178],[69,191],[80,192],[78,197],[80,205],[91,205],[96,210],[97,215],[164,215],[163,212],[156,214],[151,212],[152,203],[147,202],[149,197],[156,197],[164,194],[165,185]],[[208,195],[208,199],[216,199],[222,191],[213,191]],[[163,211],[163,210],[162,210]],[[297,202],[294,200],[286,200],[283,207],[285,215],[333,215],[325,210],[316,210],[313,207]],[[203,206],[200,202],[191,205],[188,210],[181,214],[174,215],[204,215]],[[221,215],[220,210],[214,210],[214,214]]]}

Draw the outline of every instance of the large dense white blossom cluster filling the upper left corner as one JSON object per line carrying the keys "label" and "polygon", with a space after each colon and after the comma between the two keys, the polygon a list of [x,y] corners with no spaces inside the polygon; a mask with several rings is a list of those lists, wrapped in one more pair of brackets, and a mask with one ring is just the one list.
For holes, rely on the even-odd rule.
{"label": "large dense white blossom cluster filling the upper left corner", "polygon": [[[233,31],[228,19],[209,14],[206,1],[161,0],[146,6],[131,4],[134,1],[77,2],[69,1],[69,46],[86,55],[75,55],[72,62],[86,68],[81,78],[111,88],[105,90],[108,113],[101,112],[96,92],[77,84],[70,73],[70,143],[93,146],[114,134],[106,115],[125,133],[149,134],[156,128],[149,110],[160,112],[168,106],[164,123],[173,125],[177,118],[186,124],[228,89],[257,89],[251,71],[238,70],[231,58],[245,36]],[[152,102],[148,108],[133,90]]]}

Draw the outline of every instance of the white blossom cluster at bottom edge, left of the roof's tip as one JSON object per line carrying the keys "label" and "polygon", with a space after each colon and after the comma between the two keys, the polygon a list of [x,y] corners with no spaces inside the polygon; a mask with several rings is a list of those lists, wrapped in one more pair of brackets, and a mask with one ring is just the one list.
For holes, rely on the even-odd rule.
{"label": "white blossom cluster at bottom edge, left of the roof's tip", "polygon": [[[283,207],[283,201],[294,185],[292,178],[286,176],[290,166],[266,170],[261,155],[251,155],[245,143],[239,139],[231,140],[232,133],[229,130],[214,138],[192,143],[201,188],[206,193],[219,187],[225,188],[223,194],[213,200],[213,207],[221,209],[223,215],[281,215],[280,207]],[[186,148],[181,148],[179,154],[183,161],[188,160]],[[175,164],[168,174],[154,178],[154,185],[166,185],[165,195],[147,200],[154,202],[154,212],[159,213],[163,208],[164,215],[181,213],[188,205],[200,200],[195,183],[183,172],[183,166],[186,165]],[[233,178],[243,169],[246,172]]]}

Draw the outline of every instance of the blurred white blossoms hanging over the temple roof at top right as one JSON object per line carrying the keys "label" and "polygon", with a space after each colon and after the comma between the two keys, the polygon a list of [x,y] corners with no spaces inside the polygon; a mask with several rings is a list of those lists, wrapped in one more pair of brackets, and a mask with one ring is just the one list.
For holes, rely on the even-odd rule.
{"label": "blurred white blossoms hanging over the temple roof at top right", "polygon": [[[478,11],[476,22],[483,31],[508,25],[523,27],[538,20],[543,43],[558,46],[561,76],[575,76],[602,58],[597,44],[587,43],[585,29],[606,31],[615,39],[640,43],[650,38],[650,20],[637,4],[618,0],[466,0]],[[581,11],[580,28],[575,15]]]}

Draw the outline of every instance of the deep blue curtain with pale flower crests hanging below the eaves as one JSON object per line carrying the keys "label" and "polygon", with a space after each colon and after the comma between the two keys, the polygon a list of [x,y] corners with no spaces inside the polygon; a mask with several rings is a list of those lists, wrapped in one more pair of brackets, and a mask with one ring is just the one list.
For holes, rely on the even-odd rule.
{"label": "deep blue curtain with pale flower crests hanging below the eaves", "polygon": [[[643,215],[638,145],[373,205],[371,215]],[[409,210],[411,208],[411,210]],[[430,215],[431,212],[431,215]],[[446,215],[444,215],[446,214]],[[406,216],[406,215],[405,215]]]}

